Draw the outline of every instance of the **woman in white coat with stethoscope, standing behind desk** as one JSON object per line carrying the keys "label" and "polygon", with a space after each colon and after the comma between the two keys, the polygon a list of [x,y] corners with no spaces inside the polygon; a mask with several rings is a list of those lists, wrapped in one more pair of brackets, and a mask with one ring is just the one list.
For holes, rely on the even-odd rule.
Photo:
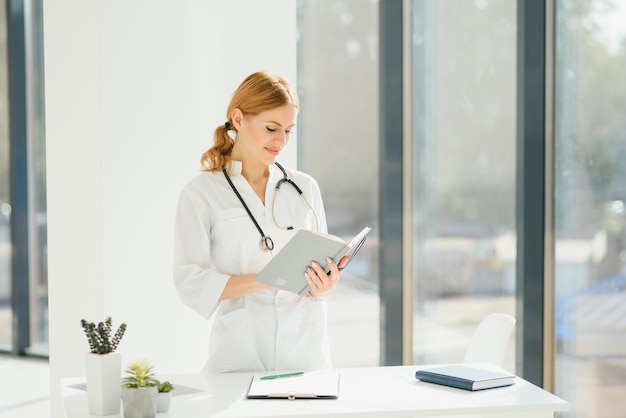
{"label": "woman in white coat with stethoscope, standing behind desk", "polygon": [[335,261],[348,257],[329,260],[328,274],[317,263],[303,271],[305,297],[254,281],[297,230],[327,232],[317,182],[275,164],[298,110],[285,78],[248,76],[180,193],[174,283],[186,305],[215,316],[205,371],[331,367],[326,301],[341,275]]}

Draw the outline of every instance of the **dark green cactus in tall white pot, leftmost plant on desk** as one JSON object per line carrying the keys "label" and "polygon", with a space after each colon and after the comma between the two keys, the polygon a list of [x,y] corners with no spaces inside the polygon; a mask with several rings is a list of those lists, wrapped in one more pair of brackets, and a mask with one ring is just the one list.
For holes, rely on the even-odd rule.
{"label": "dark green cactus in tall white pot, leftmost plant on desk", "polygon": [[80,323],[89,343],[89,352],[85,355],[89,413],[92,415],[119,414],[122,356],[115,350],[126,332],[126,324],[122,323],[113,333],[111,317],[107,317],[97,325],[85,319],[82,319]]}

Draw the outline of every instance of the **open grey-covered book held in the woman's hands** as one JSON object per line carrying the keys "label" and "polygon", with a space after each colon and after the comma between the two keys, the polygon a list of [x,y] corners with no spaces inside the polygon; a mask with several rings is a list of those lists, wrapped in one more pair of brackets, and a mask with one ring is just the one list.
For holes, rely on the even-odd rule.
{"label": "open grey-covered book held in the woman's hands", "polygon": [[304,296],[309,291],[304,271],[311,265],[311,262],[317,261],[326,271],[329,271],[326,257],[338,263],[341,257],[352,250],[351,260],[371,229],[370,227],[363,228],[347,243],[334,235],[301,229],[254,280]]}

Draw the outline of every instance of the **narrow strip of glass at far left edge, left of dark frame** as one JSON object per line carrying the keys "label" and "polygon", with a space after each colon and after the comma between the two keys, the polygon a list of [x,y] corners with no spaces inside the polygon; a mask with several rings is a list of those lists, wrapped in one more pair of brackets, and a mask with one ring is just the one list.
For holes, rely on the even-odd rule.
{"label": "narrow strip of glass at far left edge, left of dark frame", "polygon": [[6,0],[0,0],[0,350],[10,350],[13,340],[6,9]]}

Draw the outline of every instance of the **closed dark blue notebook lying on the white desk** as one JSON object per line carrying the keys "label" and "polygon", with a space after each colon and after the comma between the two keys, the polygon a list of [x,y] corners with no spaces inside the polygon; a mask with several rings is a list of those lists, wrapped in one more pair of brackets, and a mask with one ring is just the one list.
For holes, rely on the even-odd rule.
{"label": "closed dark blue notebook lying on the white desk", "polygon": [[515,383],[513,374],[462,364],[424,368],[416,371],[415,377],[423,382],[472,391],[510,386]]}

